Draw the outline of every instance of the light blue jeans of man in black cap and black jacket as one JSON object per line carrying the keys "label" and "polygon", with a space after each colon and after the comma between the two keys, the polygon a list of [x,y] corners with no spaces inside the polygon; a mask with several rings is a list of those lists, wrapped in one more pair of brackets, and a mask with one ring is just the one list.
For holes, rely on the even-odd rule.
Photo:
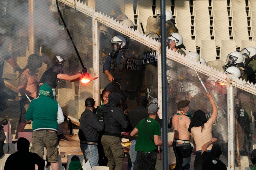
{"label": "light blue jeans of man in black cap and black jacket", "polygon": [[91,166],[99,166],[99,155],[98,155],[98,148],[96,145],[90,144],[80,144],[80,148],[84,154],[84,160],[87,162],[90,160]]}

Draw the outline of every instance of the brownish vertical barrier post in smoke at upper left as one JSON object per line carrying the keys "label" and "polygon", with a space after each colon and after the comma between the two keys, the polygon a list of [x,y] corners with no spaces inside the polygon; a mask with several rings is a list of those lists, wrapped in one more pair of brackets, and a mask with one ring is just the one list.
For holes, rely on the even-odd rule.
{"label": "brownish vertical barrier post in smoke at upper left", "polygon": [[29,0],[29,55],[34,54],[34,0]]}

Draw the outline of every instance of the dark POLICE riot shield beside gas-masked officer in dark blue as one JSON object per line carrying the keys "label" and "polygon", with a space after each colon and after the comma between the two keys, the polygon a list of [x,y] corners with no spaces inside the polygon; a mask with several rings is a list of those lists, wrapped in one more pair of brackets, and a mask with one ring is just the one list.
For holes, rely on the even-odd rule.
{"label": "dark POLICE riot shield beside gas-masked officer in dark blue", "polygon": [[125,54],[126,61],[121,80],[121,88],[123,90],[137,90],[143,57],[142,47],[141,43],[135,40],[130,40],[129,49]]}

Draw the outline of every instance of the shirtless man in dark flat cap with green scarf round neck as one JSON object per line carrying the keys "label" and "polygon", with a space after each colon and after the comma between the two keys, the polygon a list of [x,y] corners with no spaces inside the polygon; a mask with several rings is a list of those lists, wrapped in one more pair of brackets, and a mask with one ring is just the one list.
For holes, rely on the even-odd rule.
{"label": "shirtless man in dark flat cap with green scarf round neck", "polygon": [[[188,132],[188,127],[190,124],[191,115],[189,110],[189,100],[181,100],[177,103],[178,111],[173,116],[172,124],[174,128],[174,139],[173,139],[173,150],[176,157],[176,167],[175,169],[189,170],[190,159],[193,147],[189,142],[191,134]],[[181,147],[183,149],[188,149],[186,155],[181,154]]]}

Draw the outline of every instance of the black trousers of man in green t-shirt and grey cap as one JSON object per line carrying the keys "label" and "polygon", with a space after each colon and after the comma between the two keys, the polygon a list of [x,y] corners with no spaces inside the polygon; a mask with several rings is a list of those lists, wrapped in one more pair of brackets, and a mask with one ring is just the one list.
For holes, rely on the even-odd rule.
{"label": "black trousers of man in green t-shirt and grey cap", "polygon": [[157,152],[138,151],[134,163],[135,170],[155,170],[157,161]]}

